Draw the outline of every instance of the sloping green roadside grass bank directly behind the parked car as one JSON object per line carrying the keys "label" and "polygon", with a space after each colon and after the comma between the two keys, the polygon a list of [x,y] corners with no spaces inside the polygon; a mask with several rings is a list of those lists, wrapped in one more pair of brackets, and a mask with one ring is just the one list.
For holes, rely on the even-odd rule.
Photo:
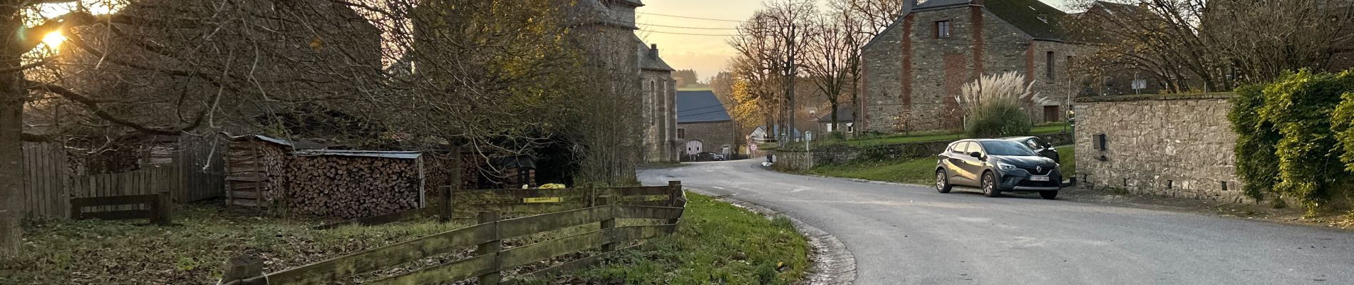
{"label": "sloping green roadside grass bank directly behind the parked car", "polygon": [[[1076,150],[1072,146],[1057,147],[1059,170],[1064,177],[1076,174]],[[932,185],[936,182],[936,158],[907,161],[864,162],[850,165],[818,166],[808,173],[831,177],[861,178],[900,184]]]}

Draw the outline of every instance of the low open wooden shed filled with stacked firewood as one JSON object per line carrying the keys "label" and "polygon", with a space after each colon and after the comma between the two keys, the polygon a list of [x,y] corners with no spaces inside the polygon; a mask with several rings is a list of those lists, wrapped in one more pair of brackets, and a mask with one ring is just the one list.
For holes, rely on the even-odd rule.
{"label": "low open wooden shed filled with stacked firewood", "polygon": [[422,154],[232,138],[227,204],[279,216],[366,217],[424,207]]}

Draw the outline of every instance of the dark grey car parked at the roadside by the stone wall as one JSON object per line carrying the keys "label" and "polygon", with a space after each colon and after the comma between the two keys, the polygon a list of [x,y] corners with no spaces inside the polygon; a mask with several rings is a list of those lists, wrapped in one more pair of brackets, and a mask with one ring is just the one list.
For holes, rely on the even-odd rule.
{"label": "dark grey car parked at the roadside by the stone wall", "polygon": [[1063,189],[1057,162],[1041,157],[1022,143],[1005,139],[964,139],[953,142],[937,157],[936,190],[976,186],[987,197],[1002,192],[1039,192],[1056,199]]}

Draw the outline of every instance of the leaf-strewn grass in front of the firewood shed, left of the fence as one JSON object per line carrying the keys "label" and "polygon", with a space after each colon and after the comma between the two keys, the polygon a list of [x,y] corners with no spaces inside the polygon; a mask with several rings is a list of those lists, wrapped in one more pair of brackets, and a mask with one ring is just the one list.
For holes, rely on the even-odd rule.
{"label": "leaf-strewn grass in front of the firewood shed, left of the fence", "polygon": [[257,254],[264,271],[307,265],[467,223],[431,219],[375,227],[310,230],[317,220],[234,213],[218,205],[175,211],[176,226],[145,220],[49,220],[24,224],[18,258],[0,261],[0,284],[215,284],[226,259]]}

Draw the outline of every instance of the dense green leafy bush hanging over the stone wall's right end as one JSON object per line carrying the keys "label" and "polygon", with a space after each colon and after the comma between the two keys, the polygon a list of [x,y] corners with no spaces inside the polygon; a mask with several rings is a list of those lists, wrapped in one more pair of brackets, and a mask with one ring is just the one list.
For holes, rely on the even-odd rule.
{"label": "dense green leafy bush hanging over the stone wall's right end", "polygon": [[1240,96],[1228,118],[1239,135],[1236,172],[1248,195],[1261,196],[1269,188],[1281,197],[1296,197],[1308,215],[1316,213],[1340,188],[1339,181],[1350,178],[1349,161],[1339,163],[1342,154],[1349,157],[1354,150],[1346,143],[1354,136],[1349,134],[1354,118],[1354,107],[1347,107],[1354,104],[1350,90],[1350,72],[1311,70],[1284,74],[1263,88],[1238,89]]}

